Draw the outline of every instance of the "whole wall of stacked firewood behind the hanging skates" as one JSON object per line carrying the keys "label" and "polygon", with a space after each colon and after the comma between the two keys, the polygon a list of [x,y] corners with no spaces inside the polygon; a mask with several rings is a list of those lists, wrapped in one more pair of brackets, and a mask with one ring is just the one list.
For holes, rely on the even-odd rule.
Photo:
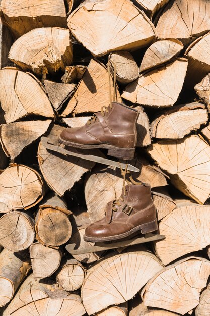
{"label": "whole wall of stacked firewood behind the hanging skates", "polygon": [[[0,10],[2,314],[209,315],[210,2],[1,0]],[[58,145],[110,94],[140,113],[129,163],[151,185],[166,238],[73,257],[65,246],[94,245],[85,228],[123,177],[53,154],[41,136]]]}

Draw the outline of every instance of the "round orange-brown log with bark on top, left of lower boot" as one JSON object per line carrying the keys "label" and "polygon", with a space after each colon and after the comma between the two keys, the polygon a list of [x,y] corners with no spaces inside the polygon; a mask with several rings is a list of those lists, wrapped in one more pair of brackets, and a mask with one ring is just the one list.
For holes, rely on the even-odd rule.
{"label": "round orange-brown log with bark on top, left of lower boot", "polygon": [[72,235],[66,203],[56,194],[47,195],[36,214],[36,239],[43,245],[58,247]]}

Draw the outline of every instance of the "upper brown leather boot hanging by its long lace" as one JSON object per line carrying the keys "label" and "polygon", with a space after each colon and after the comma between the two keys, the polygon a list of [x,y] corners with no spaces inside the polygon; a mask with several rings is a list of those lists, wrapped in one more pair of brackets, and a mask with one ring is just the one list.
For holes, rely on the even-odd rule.
{"label": "upper brown leather boot hanging by its long lace", "polygon": [[112,102],[94,113],[82,127],[66,128],[58,141],[66,146],[108,149],[108,155],[132,159],[135,152],[139,112],[124,104]]}

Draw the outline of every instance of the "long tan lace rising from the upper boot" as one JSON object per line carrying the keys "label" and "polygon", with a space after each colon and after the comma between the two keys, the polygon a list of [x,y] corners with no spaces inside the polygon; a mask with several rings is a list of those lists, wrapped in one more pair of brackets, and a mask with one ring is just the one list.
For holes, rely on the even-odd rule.
{"label": "long tan lace rising from the upper boot", "polygon": [[[114,68],[114,82],[113,82],[113,88],[114,88],[114,93],[113,93],[113,102],[115,101],[115,95],[116,95],[116,64],[112,61],[113,64],[113,68]],[[109,108],[112,109],[112,93],[111,93],[111,72],[110,72],[110,67],[111,67],[111,63],[110,63],[110,55],[109,55],[109,59],[108,59],[108,63],[107,63],[107,70],[108,70],[108,76],[109,76]],[[105,116],[105,112],[108,113],[109,110],[107,107],[103,106],[101,107],[101,115],[104,117]],[[95,115],[95,113],[92,115],[92,117],[88,120],[87,124],[90,125],[91,123],[94,123],[96,121],[97,116]]]}

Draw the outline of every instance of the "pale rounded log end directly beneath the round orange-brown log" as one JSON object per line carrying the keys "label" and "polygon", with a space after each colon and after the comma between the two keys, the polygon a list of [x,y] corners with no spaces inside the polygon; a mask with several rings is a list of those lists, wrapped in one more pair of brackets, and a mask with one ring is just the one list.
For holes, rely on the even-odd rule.
{"label": "pale rounded log end directly beneath the round orange-brown log", "polygon": [[60,266],[61,251],[45,247],[39,242],[30,246],[31,265],[34,278],[51,276]]}

